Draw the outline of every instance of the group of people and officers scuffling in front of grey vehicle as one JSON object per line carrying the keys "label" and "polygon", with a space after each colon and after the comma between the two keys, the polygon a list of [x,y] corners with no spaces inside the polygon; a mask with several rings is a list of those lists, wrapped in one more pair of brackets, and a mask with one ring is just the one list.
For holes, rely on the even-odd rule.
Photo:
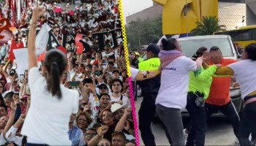
{"label": "group of people and officers scuffling in front of grey vehicle", "polygon": [[[255,51],[255,44],[247,46],[241,53],[241,61],[237,61],[224,58],[217,46],[200,47],[192,58],[187,58],[177,39],[164,38],[160,46],[150,44],[142,53],[131,52],[132,74],[136,74],[136,69],[160,71],[151,79],[133,81],[134,93],[138,86],[143,96],[138,112],[143,143],[156,145],[151,123],[157,115],[170,145],[205,145],[206,123],[219,111],[232,123],[240,145],[255,145]],[[237,83],[232,86],[240,85],[244,100],[240,115],[230,99],[233,76]],[[184,109],[190,117],[186,128],[181,116]]]}

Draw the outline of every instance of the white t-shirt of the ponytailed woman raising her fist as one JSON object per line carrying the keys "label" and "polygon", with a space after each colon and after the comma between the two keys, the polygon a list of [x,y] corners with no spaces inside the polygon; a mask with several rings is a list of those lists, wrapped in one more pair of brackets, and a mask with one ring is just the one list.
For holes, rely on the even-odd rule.
{"label": "white t-shirt of the ponytailed woman raising her fist", "polygon": [[72,145],[67,131],[70,115],[78,112],[78,91],[61,85],[62,98],[52,96],[37,67],[29,70],[29,87],[31,105],[21,134],[27,136],[30,143]]}

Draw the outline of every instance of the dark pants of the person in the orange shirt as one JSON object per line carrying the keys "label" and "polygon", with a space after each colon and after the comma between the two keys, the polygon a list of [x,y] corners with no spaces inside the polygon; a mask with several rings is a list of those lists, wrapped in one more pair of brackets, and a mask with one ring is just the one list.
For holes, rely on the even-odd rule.
{"label": "dark pants of the person in the orange shirt", "polygon": [[230,120],[230,123],[233,126],[234,134],[238,138],[238,128],[240,126],[240,118],[238,113],[236,112],[236,108],[232,101],[222,106],[206,104],[205,107],[206,107],[207,120],[211,117],[211,115],[214,112],[218,112],[218,111],[222,112],[227,117],[227,119]]}

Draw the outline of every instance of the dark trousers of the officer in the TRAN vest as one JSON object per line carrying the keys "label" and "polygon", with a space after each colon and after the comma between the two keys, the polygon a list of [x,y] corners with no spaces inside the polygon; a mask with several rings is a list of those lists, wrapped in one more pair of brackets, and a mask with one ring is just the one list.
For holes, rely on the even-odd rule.
{"label": "dark trousers of the officer in the TRAN vest", "polygon": [[154,115],[156,115],[156,98],[156,93],[143,95],[143,101],[140,104],[140,110],[138,112],[140,134],[145,145],[156,145],[154,134],[151,130],[151,123]]}

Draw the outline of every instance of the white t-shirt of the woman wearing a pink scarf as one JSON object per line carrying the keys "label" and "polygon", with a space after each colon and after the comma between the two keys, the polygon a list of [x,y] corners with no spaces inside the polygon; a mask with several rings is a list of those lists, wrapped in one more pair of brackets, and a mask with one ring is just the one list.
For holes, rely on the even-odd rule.
{"label": "white t-shirt of the woman wearing a pink scarf", "polygon": [[162,69],[161,85],[156,104],[164,107],[184,109],[187,105],[189,72],[195,71],[197,64],[185,56],[174,59]]}

